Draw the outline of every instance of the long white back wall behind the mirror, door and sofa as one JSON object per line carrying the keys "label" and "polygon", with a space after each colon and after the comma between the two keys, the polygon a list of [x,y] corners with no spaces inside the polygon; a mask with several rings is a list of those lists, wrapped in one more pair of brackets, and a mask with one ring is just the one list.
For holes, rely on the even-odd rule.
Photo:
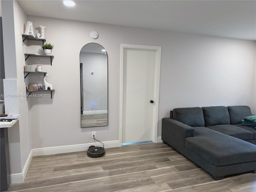
{"label": "long white back wall behind the mirror, door and sofa", "polygon": [[[161,119],[176,107],[256,108],[250,103],[254,41],[37,16],[28,16],[28,20],[34,27],[46,26],[45,38],[54,44],[53,65],[43,68],[50,72],[48,82],[56,90],[52,100],[30,98],[32,148],[90,143],[91,131],[101,141],[118,140],[121,43],[162,47],[158,136]],[[92,30],[99,33],[98,39],[90,38]],[[108,52],[109,125],[80,128],[79,53],[90,42],[101,44]],[[28,47],[30,53],[37,51],[38,46]]]}

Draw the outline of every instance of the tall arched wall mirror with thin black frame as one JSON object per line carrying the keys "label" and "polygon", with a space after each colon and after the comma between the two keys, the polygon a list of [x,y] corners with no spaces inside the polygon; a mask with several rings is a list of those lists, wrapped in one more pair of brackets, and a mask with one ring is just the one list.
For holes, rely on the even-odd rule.
{"label": "tall arched wall mirror with thin black frame", "polygon": [[81,127],[108,125],[108,54],[97,43],[80,51]]}

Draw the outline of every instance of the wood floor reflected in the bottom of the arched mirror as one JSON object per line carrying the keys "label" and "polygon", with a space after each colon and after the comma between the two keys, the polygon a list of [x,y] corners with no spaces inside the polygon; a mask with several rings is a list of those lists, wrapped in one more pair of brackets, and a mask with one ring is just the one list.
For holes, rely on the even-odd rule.
{"label": "wood floor reflected in the bottom of the arched mirror", "polygon": [[108,125],[108,114],[81,114],[81,127]]}

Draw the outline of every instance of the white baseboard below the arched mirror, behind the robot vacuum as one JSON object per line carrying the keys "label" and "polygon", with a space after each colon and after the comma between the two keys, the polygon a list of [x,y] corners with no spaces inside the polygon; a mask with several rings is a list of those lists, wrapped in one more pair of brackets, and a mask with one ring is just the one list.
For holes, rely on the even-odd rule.
{"label": "white baseboard below the arched mirror, behind the robot vacuum", "polygon": [[[103,143],[104,143],[104,148],[112,148],[112,147],[120,146],[119,140],[106,141]],[[100,142],[96,142],[96,143],[93,142],[93,143],[77,144],[77,145],[37,148],[37,149],[32,149],[32,150],[33,150],[33,156],[52,155],[52,154],[60,154],[60,153],[86,151],[89,148],[89,146],[91,146],[91,145],[102,146],[102,144]]]}

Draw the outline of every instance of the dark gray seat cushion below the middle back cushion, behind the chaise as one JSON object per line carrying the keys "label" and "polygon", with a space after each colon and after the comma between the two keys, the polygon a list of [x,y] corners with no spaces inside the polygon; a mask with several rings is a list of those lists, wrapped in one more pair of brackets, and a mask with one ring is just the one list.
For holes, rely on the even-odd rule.
{"label": "dark gray seat cushion below the middle back cushion, behind the chaise", "polygon": [[253,138],[253,133],[251,131],[243,129],[238,126],[234,126],[234,125],[214,125],[214,126],[208,126],[207,128],[222,132],[224,134],[227,134],[242,140],[249,140]]}

